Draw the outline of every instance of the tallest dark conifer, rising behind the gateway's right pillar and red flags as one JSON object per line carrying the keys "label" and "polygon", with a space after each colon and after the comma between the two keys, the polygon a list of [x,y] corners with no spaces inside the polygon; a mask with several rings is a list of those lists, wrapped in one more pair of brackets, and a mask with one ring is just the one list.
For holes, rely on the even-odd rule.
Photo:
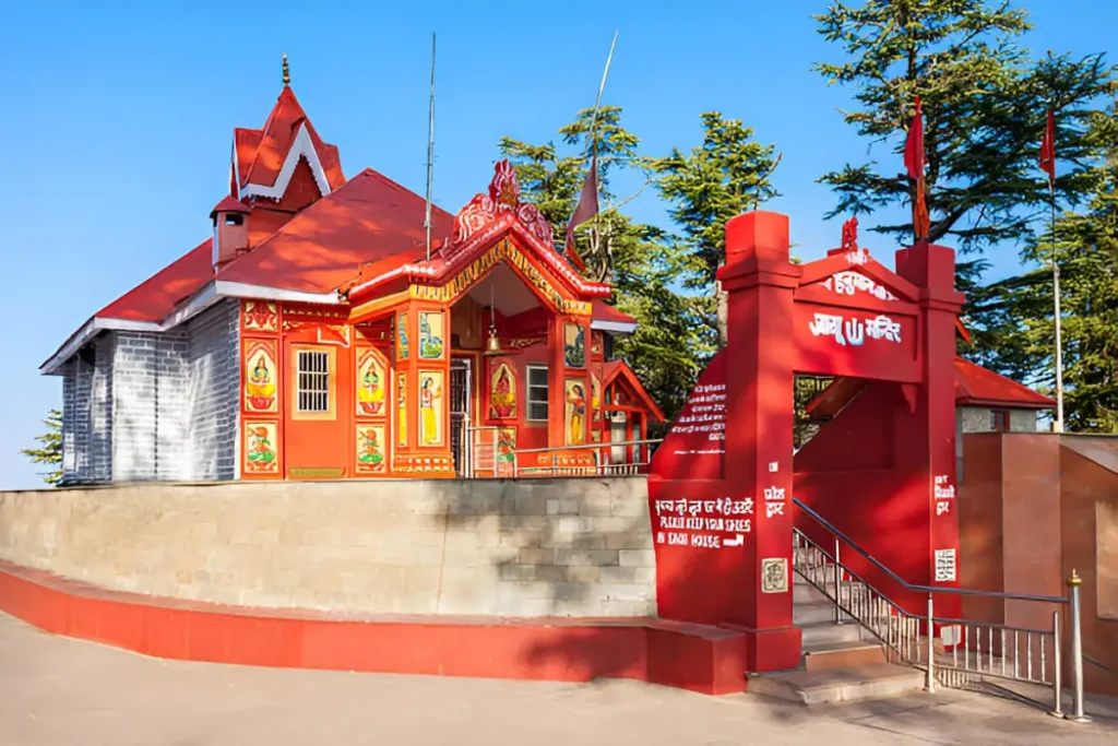
{"label": "tallest dark conifer, rising behind the gateway's right pillar and red flags", "polygon": [[[821,179],[839,196],[827,217],[911,204],[901,153],[917,95],[923,100],[930,240],[948,238],[977,253],[1029,238],[1048,205],[1036,158],[1049,106],[1057,116],[1058,193],[1076,204],[1088,190],[1088,120],[1110,75],[1102,55],[1049,53],[1031,62],[1016,41],[1031,25],[1007,1],[868,0],[860,8],[833,2],[816,20],[849,59],[815,69],[832,84],[854,88],[860,108],[845,113],[846,123],[890,149],[882,163],[847,163]],[[904,243],[912,227],[907,221],[872,229]]]}

